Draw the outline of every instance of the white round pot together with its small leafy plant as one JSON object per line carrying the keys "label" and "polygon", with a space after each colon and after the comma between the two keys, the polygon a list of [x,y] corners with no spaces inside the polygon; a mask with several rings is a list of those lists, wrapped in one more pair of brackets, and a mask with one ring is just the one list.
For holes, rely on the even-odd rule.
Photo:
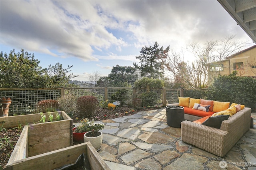
{"label": "white round pot together with its small leafy plant", "polygon": [[92,146],[98,151],[101,149],[103,135],[99,131],[104,128],[104,125],[101,123],[90,122],[88,125],[90,131],[84,134],[84,142],[90,142]]}

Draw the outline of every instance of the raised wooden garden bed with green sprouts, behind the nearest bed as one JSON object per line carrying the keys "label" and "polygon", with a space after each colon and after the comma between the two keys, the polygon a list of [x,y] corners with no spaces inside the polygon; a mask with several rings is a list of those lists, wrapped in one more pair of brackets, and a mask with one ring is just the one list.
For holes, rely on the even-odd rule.
{"label": "raised wooden garden bed with green sprouts, behind the nearest bed", "polygon": [[[40,114],[19,115],[1,117],[0,123],[3,127],[18,127],[25,125],[10,156],[9,162],[15,162],[30,156],[62,149],[73,145],[72,124],[73,120],[64,112],[50,112],[56,117],[58,113],[63,120],[36,123],[40,121]],[[48,113],[43,113],[48,119]],[[8,162],[8,164],[9,164]]]}

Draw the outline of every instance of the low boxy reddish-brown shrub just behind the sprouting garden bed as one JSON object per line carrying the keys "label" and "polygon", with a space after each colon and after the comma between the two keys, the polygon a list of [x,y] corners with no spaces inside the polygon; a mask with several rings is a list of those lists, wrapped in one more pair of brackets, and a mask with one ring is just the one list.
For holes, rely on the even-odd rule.
{"label": "low boxy reddish-brown shrub just behind the sprouting garden bed", "polygon": [[58,111],[59,109],[57,100],[41,100],[36,104],[37,113]]}

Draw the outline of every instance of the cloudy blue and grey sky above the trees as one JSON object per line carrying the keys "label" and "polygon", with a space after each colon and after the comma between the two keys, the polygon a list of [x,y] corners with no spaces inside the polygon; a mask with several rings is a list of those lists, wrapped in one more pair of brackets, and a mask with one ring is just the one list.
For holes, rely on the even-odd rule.
{"label": "cloudy blue and grey sky above the trees", "polygon": [[24,49],[42,68],[72,65],[74,80],[133,66],[156,41],[192,62],[186,45],[231,35],[255,45],[217,0],[0,1],[0,51]]}

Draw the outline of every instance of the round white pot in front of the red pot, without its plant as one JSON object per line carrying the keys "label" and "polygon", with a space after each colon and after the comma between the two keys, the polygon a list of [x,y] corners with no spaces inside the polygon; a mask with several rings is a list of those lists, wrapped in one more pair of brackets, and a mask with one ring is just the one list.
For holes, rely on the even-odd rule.
{"label": "round white pot in front of the red pot, without its plant", "polygon": [[96,133],[98,136],[90,137],[92,136],[92,132],[93,131],[90,131],[84,134],[84,142],[90,142],[92,146],[98,151],[101,149],[103,135],[101,131],[94,131],[94,133]]}

